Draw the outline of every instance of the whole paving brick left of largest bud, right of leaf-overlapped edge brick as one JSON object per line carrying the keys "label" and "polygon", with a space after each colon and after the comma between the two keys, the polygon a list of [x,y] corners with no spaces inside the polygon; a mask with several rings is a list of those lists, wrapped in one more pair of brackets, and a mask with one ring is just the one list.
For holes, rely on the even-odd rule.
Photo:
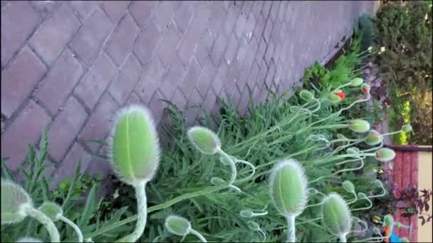
{"label": "whole paving brick left of largest bud, right of leaf-overlapped edge brick", "polygon": [[84,107],[74,97],[70,97],[48,129],[48,152],[55,161],[61,161],[65,156],[86,118]]}

